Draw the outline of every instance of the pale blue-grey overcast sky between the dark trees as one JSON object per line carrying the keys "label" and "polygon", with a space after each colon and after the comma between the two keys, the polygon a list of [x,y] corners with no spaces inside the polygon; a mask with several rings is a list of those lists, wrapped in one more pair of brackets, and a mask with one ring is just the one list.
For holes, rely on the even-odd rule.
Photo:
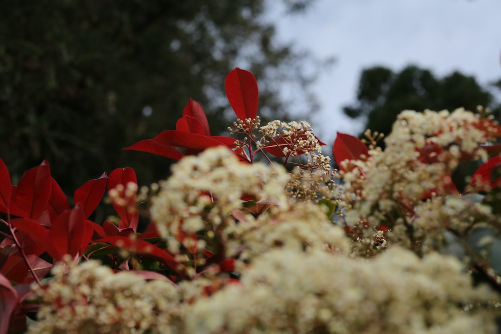
{"label": "pale blue-grey overcast sky between the dark trees", "polygon": [[315,86],[321,112],[310,120],[328,143],[336,131],[361,130],[341,106],[355,101],[363,68],[412,63],[437,76],[458,70],[480,84],[501,78],[501,0],[316,0],[295,16],[284,16],[281,3],[273,0],[270,12],[279,39],[337,60]]}

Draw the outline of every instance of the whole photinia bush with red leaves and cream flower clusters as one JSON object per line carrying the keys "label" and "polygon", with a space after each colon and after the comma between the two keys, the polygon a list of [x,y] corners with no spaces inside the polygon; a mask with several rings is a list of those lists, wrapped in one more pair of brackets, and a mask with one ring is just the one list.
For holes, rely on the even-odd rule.
{"label": "whole photinia bush with red leaves and cream flower clusters", "polygon": [[[178,160],[150,188],[117,168],[70,201],[48,162],[12,185],[0,159],[0,334],[496,332],[501,127],[483,110],[404,111],[384,151],[338,133],[338,174],[308,122],[261,125],[252,73],[225,90],[230,136],[190,99],[125,148]],[[116,215],[95,221],[103,198]]]}

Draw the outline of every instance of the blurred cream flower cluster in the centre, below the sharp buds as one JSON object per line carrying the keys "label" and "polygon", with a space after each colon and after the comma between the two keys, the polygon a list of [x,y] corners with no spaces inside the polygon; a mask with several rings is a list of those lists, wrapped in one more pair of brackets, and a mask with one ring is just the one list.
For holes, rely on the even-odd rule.
{"label": "blurred cream flower cluster in the centre, below the sharp buds", "polygon": [[[225,257],[249,260],[273,247],[347,249],[344,231],[332,225],[312,202],[290,201],[285,187],[290,177],[281,166],[244,164],[225,148],[208,149],[186,157],[172,169],[154,198],[151,214],[159,232],[169,237],[174,253],[198,232],[218,238]],[[263,213],[245,207],[242,196],[255,205],[269,206]],[[182,232],[180,242],[174,240]],[[179,239],[179,238],[178,238]],[[194,240],[203,264],[205,241]]]}

